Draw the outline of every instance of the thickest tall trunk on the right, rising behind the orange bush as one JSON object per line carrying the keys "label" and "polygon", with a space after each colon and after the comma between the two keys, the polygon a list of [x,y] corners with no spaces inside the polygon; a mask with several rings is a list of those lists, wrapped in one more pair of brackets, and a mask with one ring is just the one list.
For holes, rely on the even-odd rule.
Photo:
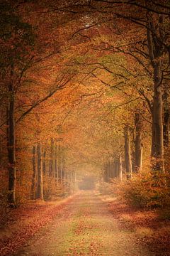
{"label": "thickest tall trunk on the right, rising behind the orange bush", "polygon": [[[152,171],[164,172],[164,135],[163,135],[163,118],[162,118],[162,63],[164,57],[164,46],[158,44],[157,36],[164,35],[160,32],[163,26],[163,16],[159,17],[159,24],[154,23],[152,13],[147,13],[147,44],[149,50],[149,59],[153,68],[154,78],[154,100],[152,107]],[[159,30],[157,29],[159,28]],[[163,31],[163,30],[162,30]]]}

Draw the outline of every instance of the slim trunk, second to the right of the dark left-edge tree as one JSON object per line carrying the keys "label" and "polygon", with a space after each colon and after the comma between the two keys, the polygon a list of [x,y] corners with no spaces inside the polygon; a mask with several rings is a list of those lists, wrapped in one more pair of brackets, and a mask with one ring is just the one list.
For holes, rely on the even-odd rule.
{"label": "slim trunk, second to the right of the dark left-edge tree", "polygon": [[36,198],[43,200],[42,159],[41,159],[41,145],[40,145],[40,143],[38,143],[38,146],[37,146],[37,155],[38,155],[38,182],[37,182]]}

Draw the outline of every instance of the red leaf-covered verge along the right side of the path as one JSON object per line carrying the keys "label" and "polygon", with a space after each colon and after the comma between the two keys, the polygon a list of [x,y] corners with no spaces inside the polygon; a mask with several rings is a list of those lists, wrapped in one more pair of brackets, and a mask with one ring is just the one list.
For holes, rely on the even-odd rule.
{"label": "red leaf-covered verge along the right side of the path", "polygon": [[135,232],[137,240],[155,256],[170,255],[170,220],[166,219],[164,210],[160,214],[158,209],[135,208],[116,199],[109,202],[107,197],[103,200],[108,201],[108,208],[120,228]]}

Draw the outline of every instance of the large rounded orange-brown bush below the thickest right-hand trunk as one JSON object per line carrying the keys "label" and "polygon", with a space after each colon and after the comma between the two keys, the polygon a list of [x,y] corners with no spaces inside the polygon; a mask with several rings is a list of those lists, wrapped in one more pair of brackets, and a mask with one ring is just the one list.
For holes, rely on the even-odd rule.
{"label": "large rounded orange-brown bush below the thickest right-hand trunk", "polygon": [[165,176],[137,174],[123,184],[123,197],[137,207],[166,207],[170,203],[170,191],[164,183]]}

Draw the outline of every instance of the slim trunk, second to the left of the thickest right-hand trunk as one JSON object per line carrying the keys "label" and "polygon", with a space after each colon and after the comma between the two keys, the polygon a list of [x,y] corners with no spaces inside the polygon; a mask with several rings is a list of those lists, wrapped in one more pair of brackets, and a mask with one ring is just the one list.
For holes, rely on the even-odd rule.
{"label": "slim trunk, second to the left of the thickest right-hand trunk", "polygon": [[128,179],[130,179],[132,177],[132,161],[130,156],[130,138],[129,138],[128,127],[125,127],[124,136],[125,136],[125,169],[126,169],[126,176]]}

